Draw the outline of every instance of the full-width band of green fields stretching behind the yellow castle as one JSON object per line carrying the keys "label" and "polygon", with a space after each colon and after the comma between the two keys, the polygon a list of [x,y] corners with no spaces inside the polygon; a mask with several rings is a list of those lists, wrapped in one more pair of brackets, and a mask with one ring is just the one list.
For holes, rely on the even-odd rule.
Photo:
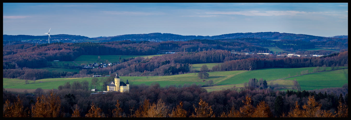
{"label": "full-width band of green fields stretching behind the yellow castle", "polygon": [[[195,73],[188,73],[182,75],[173,75],[173,76],[128,76],[123,77],[120,76],[121,81],[126,81],[128,79],[131,85],[139,85],[145,84],[150,85],[151,83],[158,82],[161,87],[166,85],[184,85],[184,84],[201,84],[204,85],[208,80],[213,80],[213,82],[217,85],[222,86],[211,86],[205,87],[206,88],[214,88],[208,89],[208,91],[213,90],[222,90],[223,88],[232,87],[232,84],[237,84],[236,87],[243,87],[243,83],[248,82],[250,78],[263,78],[267,81],[274,80],[274,79],[282,79],[282,80],[274,80],[267,82],[268,85],[271,83],[274,85],[278,83],[279,85],[276,87],[283,87],[285,89],[291,89],[292,80],[297,79],[299,84],[301,85],[301,89],[303,90],[314,90],[314,89],[322,89],[327,87],[341,87],[345,83],[347,83],[347,73],[348,69],[342,70],[334,70],[334,71],[323,71],[317,73],[313,72],[313,69],[316,67],[311,68],[270,68],[270,69],[259,69],[259,70],[252,70],[252,71],[214,71],[208,72],[210,75],[208,79],[198,79]],[[344,67],[343,67],[344,68]],[[302,70],[309,70],[311,74],[306,74],[302,76],[296,76],[296,72],[300,75],[300,71]],[[327,67],[326,70],[330,70],[330,67]],[[296,76],[296,77],[289,77]],[[346,73],[346,74],[345,74]],[[14,88],[14,89],[37,89],[41,87],[42,89],[52,89],[59,85],[63,85],[66,82],[73,82],[75,80],[84,81],[87,80],[91,82],[92,78],[47,78],[47,79],[39,79],[36,80],[35,84],[25,84],[25,80],[22,79],[8,79],[3,78],[3,87],[4,88]],[[205,80],[205,82],[203,82]],[[29,83],[33,83],[32,80],[29,80]],[[42,83],[39,83],[42,82]],[[98,89],[101,86],[98,87]],[[218,88],[218,89],[216,89]]]}

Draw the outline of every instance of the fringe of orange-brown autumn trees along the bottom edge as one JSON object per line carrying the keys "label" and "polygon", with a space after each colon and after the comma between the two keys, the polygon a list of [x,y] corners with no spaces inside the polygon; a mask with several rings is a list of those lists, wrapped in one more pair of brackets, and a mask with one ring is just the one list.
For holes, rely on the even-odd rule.
{"label": "fringe of orange-brown autumn trees along the bottom edge", "polygon": [[[187,88],[190,89],[190,87]],[[232,94],[230,90],[222,92],[227,92],[227,95]],[[243,92],[247,93],[248,91]],[[215,93],[220,94],[220,92]],[[124,93],[118,94],[125,95]],[[289,94],[291,93],[289,92]],[[101,96],[104,97],[110,95],[104,94]],[[99,106],[99,104],[96,104],[95,102],[88,102],[88,108],[86,113],[82,112],[85,108],[81,108],[78,104],[75,104],[70,108],[72,109],[73,113],[67,116],[67,114],[63,112],[64,108],[61,106],[60,97],[57,95],[57,93],[55,93],[52,90],[47,94],[40,94],[40,96],[37,97],[37,101],[35,102],[35,104],[32,104],[32,106],[30,107],[31,109],[24,108],[24,103],[20,96],[17,96],[17,99],[13,100],[13,103],[11,103],[11,101],[7,99],[3,105],[3,117],[348,117],[348,106],[346,104],[347,101],[344,101],[342,95],[340,95],[338,101],[336,101],[337,109],[335,110],[335,112],[331,110],[323,110],[322,104],[320,102],[317,102],[314,96],[309,96],[308,100],[306,101],[306,104],[301,105],[299,104],[299,100],[297,100],[295,104],[291,106],[289,112],[283,112],[280,116],[274,115],[271,112],[272,108],[270,107],[274,105],[269,105],[269,103],[266,102],[274,101],[274,99],[269,100],[267,98],[266,101],[261,100],[260,102],[258,102],[257,100],[255,100],[257,99],[257,96],[253,97],[250,94],[246,94],[246,96],[243,97],[243,99],[238,99],[240,100],[239,102],[241,103],[241,106],[233,105],[231,106],[231,109],[229,111],[224,111],[224,109],[222,109],[223,112],[219,112],[220,114],[215,114],[215,110],[218,107],[214,107],[214,105],[219,104],[210,103],[220,101],[213,101],[208,98],[204,99],[203,97],[206,96],[200,96],[202,97],[199,97],[196,104],[192,104],[192,108],[187,108],[188,110],[186,110],[184,107],[184,103],[189,105],[189,102],[186,100],[179,101],[179,104],[175,105],[175,107],[172,108],[170,107],[170,104],[167,104],[167,101],[165,102],[163,99],[157,99],[157,101],[154,102],[151,102],[150,99],[144,99],[143,103],[140,104],[138,108],[136,108],[135,112],[133,106],[121,106],[126,104],[123,104],[123,102],[117,100],[117,103],[115,103],[113,107],[110,107],[110,114],[106,112],[104,113],[103,109],[106,107]],[[221,97],[216,96],[216,98]],[[347,95],[345,96],[345,99],[346,98]],[[209,102],[206,102],[205,100]],[[254,104],[254,102],[257,103]],[[126,114],[126,112],[124,111],[125,107],[129,107],[131,113]]]}

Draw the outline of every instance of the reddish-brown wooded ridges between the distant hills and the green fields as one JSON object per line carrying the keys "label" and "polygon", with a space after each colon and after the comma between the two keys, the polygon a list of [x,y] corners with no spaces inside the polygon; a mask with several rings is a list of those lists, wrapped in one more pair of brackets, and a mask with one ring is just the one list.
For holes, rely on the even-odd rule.
{"label": "reddish-brown wooded ridges between the distant hills and the green fields", "polygon": [[[121,76],[164,76],[197,72],[192,70],[191,64],[223,63],[210,68],[210,71],[256,70],[263,68],[300,68],[315,66],[347,66],[347,51],[342,50],[336,56],[313,58],[279,58],[272,55],[237,55],[231,52],[272,53],[260,45],[277,44],[283,49],[311,48],[313,42],[301,40],[270,41],[261,38],[240,38],[225,40],[190,40],[190,41],[114,41],[104,43],[51,43],[51,44],[14,44],[4,45],[3,48],[3,77],[33,79],[39,73],[48,73],[36,77],[89,77],[94,74],[110,75],[118,72]],[[339,42],[341,43],[341,42]],[[339,44],[338,43],[338,44]],[[336,45],[335,42],[325,44]],[[345,44],[344,44],[345,45]],[[347,44],[346,44],[347,45]],[[345,47],[345,46],[344,46]],[[289,49],[288,49],[289,48]],[[81,55],[155,55],[158,51],[179,51],[177,54],[166,54],[162,57],[135,58],[122,63],[91,70],[80,70],[79,73],[57,73],[45,70],[31,70],[28,68],[43,68],[52,66],[48,61],[74,61]],[[182,53],[184,52],[184,53]],[[298,51],[299,54],[331,54],[334,51]],[[277,54],[277,53],[276,53]],[[163,63],[165,61],[167,64]],[[37,73],[33,73],[36,71]],[[27,72],[27,73],[26,73]],[[51,73],[50,73],[51,72]]]}

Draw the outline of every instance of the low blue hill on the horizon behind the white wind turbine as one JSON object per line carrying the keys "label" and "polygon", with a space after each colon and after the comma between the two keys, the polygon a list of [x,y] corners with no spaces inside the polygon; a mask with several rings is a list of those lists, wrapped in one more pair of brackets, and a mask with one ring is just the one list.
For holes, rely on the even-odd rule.
{"label": "low blue hill on the horizon behind the white wind turbine", "polygon": [[[3,41],[21,41],[26,39],[48,39],[48,35],[42,36],[33,36],[33,35],[2,35]],[[50,35],[50,39],[63,39],[69,38],[74,40],[87,40],[89,37],[80,36],[80,35],[66,35],[66,34],[58,34],[58,35]]]}

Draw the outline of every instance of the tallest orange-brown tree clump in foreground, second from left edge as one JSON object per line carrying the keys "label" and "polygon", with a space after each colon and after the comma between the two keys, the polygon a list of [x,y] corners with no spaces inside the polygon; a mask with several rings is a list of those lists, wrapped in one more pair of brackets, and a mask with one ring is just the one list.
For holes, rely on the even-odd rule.
{"label": "tallest orange-brown tree clump in foreground, second from left edge", "polygon": [[[32,117],[60,117],[61,99],[51,90],[49,96],[41,95],[32,106]],[[61,115],[62,117],[62,115]]]}

